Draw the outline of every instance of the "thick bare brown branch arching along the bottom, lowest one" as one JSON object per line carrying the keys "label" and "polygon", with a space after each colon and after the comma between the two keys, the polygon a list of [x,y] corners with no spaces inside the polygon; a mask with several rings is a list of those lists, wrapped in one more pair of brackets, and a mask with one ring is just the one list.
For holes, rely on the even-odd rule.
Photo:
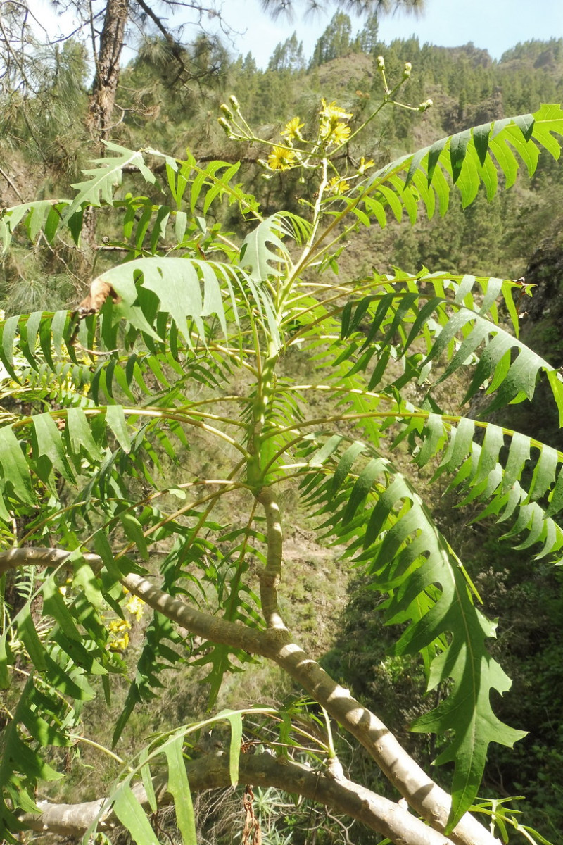
{"label": "thick bare brown branch arching along the bottom, lowest one", "polygon": [[[228,755],[202,757],[188,763],[187,777],[190,788],[195,792],[228,787]],[[239,779],[241,783],[277,787],[325,804],[337,813],[344,813],[362,821],[372,831],[381,833],[397,845],[403,845],[404,842],[409,842],[409,845],[451,845],[449,839],[427,827],[398,804],[346,778],[334,780],[327,774],[311,771],[291,760],[269,754],[241,754]],[[134,792],[138,801],[149,810],[149,802],[142,785],[134,788]],[[165,782],[155,784],[155,792],[160,807],[172,803],[171,794],[166,792]],[[103,804],[104,799],[87,801],[84,804],[50,804],[41,801],[41,815],[27,813],[21,821],[35,831],[78,837],[83,835],[95,820]],[[117,824],[115,815],[110,811],[101,821],[99,829],[107,830]]]}

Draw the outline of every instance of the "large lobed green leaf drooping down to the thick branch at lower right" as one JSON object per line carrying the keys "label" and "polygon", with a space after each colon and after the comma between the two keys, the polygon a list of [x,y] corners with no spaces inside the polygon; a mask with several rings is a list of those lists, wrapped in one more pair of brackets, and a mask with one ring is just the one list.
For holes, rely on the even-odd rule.
{"label": "large lobed green leaf drooping down to the thick branch at lower right", "polygon": [[[310,461],[314,451],[309,449]],[[524,734],[503,725],[492,711],[490,690],[502,693],[509,681],[486,651],[485,641],[494,635],[495,626],[474,607],[458,559],[407,479],[368,444],[364,451],[366,458],[371,455],[366,466],[379,459],[390,480],[382,484],[379,476],[365,494],[363,507],[359,502],[354,515],[338,508],[349,501],[361,477],[361,471],[351,472],[355,466],[351,461],[349,475],[340,481],[338,500],[333,500],[333,483],[327,481],[313,488],[311,502],[323,505],[320,512],[331,514],[336,538],[347,543],[348,554],[355,553],[356,565],[365,565],[377,589],[387,591],[387,622],[406,625],[394,653],[425,654],[429,690],[452,679],[440,706],[414,726],[452,737],[437,760],[455,764],[450,829],[474,801],[488,744],[512,746]],[[339,470],[341,465],[342,459]],[[320,470],[311,467],[310,472],[321,472],[319,480],[324,479],[326,465]]]}

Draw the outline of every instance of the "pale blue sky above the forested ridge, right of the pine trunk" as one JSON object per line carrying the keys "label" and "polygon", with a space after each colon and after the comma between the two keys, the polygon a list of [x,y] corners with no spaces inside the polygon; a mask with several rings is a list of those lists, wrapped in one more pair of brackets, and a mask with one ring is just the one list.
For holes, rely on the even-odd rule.
{"label": "pale blue sky above the forested ridge, right of the pine trunk", "polygon": [[[299,0],[295,0],[295,7],[299,7]],[[245,35],[234,38],[235,52],[252,52],[258,65],[265,67],[274,46],[294,30],[303,41],[306,57],[310,57],[334,7],[314,17],[296,14],[288,23],[268,19],[258,0],[225,0],[223,14],[235,29],[246,28]],[[358,20],[356,28],[360,27]],[[380,37],[386,43],[413,34],[421,44],[428,41],[459,46],[473,41],[475,46],[486,48],[491,57],[500,58],[518,41],[563,38],[563,0],[426,0],[425,14],[419,19],[397,14],[380,22]]]}

